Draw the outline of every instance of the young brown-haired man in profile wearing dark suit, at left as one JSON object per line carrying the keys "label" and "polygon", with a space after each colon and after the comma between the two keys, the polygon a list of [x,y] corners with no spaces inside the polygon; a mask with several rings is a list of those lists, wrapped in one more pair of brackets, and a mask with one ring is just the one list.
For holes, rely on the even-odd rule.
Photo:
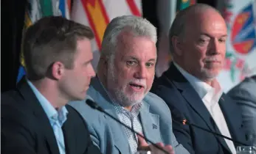
{"label": "young brown-haired man in profile wearing dark suit, at left", "polygon": [[100,153],[86,122],[67,106],[83,100],[91,66],[88,26],[46,17],[27,29],[23,51],[27,76],[1,95],[1,153]]}

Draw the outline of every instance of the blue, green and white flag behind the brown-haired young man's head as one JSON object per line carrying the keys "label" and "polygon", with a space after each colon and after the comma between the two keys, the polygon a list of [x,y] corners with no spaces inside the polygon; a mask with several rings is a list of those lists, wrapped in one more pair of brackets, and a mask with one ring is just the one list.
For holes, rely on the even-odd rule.
{"label": "blue, green and white flag behind the brown-haired young man's head", "polygon": [[[40,18],[49,15],[62,15],[70,18],[71,0],[27,0],[27,8],[24,12],[24,32],[25,30],[38,21]],[[23,52],[21,51],[20,63],[18,69],[17,82],[26,74]]]}

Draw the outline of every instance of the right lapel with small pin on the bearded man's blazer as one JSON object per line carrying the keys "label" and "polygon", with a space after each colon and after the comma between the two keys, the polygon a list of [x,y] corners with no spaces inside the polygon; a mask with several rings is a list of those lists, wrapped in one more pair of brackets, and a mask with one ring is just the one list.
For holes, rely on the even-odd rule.
{"label": "right lapel with small pin on the bearded man's blazer", "polygon": [[143,101],[142,109],[139,111],[144,136],[154,143],[162,142],[159,131],[159,115],[150,113],[149,107],[149,104]]}

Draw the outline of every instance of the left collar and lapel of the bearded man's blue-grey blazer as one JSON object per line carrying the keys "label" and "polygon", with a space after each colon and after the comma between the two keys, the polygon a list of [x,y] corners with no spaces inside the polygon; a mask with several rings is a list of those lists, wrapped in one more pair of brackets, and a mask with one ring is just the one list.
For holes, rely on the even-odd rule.
{"label": "left collar and lapel of the bearded man's blue-grey blazer", "polygon": [[[114,105],[112,104],[111,99],[109,98],[107,92],[105,91],[103,85],[100,83],[97,77],[91,79],[91,87],[93,87],[93,92],[91,92],[90,88],[89,90],[93,94],[90,96],[93,97],[98,105],[101,106],[105,111],[107,111],[109,114],[117,118],[117,120],[119,120],[116,111],[114,110]],[[108,117],[108,115],[104,114],[104,117],[111,128],[115,147],[120,150],[120,153],[127,153],[128,151],[130,151],[128,139],[125,136],[122,125],[115,120],[112,120],[111,117]]]}

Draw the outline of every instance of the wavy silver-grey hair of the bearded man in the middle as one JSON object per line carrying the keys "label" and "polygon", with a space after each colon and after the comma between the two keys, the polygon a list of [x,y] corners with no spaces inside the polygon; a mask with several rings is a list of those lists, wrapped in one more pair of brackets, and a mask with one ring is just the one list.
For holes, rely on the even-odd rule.
{"label": "wavy silver-grey hair of the bearded man in the middle", "polygon": [[134,36],[149,37],[153,43],[157,41],[156,27],[147,19],[135,15],[122,15],[114,18],[107,26],[101,45],[101,56],[113,57],[117,48],[117,37],[123,31],[132,32]]}

